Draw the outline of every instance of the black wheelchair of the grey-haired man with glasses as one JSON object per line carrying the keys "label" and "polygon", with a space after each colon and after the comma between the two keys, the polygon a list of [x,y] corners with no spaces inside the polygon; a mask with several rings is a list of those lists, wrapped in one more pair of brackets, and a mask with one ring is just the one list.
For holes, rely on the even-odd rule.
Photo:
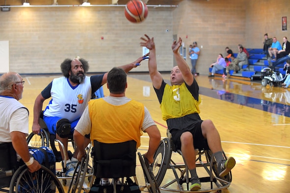
{"label": "black wheelchair of the grey-haired man with glasses", "polygon": [[64,193],[55,174],[48,168],[30,173],[22,160],[17,161],[12,143],[0,144],[0,192]]}

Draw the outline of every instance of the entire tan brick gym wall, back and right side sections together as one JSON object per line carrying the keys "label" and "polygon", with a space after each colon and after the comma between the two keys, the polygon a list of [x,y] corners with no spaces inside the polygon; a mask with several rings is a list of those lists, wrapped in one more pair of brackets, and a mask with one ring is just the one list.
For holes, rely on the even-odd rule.
{"label": "entire tan brick gym wall, back and right side sections together", "polygon": [[[226,54],[225,47],[234,52],[237,44],[263,48],[264,33],[280,42],[290,38],[281,30],[281,17],[290,21],[289,13],[288,0],[183,0],[177,8],[149,7],[148,18],[132,24],[121,6],[12,7],[0,12],[0,40],[9,40],[10,71],[58,73],[65,58],[78,55],[89,61],[89,72],[106,72],[141,56],[139,38],[147,33],[155,37],[158,70],[169,71],[177,35],[185,48],[198,43],[197,71],[208,74],[217,55]],[[147,62],[132,71],[148,71]]]}

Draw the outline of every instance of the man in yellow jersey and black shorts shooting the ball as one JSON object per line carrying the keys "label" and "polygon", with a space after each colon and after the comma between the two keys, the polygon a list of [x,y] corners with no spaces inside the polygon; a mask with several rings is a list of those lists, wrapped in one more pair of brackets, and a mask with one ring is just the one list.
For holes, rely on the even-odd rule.
{"label": "man in yellow jersey and black shorts shooting the ball", "polygon": [[160,103],[162,119],[167,122],[176,149],[181,149],[185,158],[191,174],[190,190],[199,190],[201,184],[195,169],[195,148],[204,148],[207,145],[210,147],[221,177],[227,175],[234,168],[236,161],[233,157],[225,160],[219,133],[212,121],[203,121],[199,117],[199,104],[201,102],[198,93],[199,87],[178,51],[182,45],[182,39],[174,41],[171,46],[177,62],[177,66],[173,67],[170,74],[172,86],[165,83],[160,72],[157,71],[154,38],[150,39],[145,34],[141,40],[140,46],[150,50],[148,68]]}

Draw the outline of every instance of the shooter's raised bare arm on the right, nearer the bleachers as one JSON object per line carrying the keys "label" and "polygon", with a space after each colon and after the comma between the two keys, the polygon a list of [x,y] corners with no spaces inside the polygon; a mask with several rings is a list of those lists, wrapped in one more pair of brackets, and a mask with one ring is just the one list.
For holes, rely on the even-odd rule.
{"label": "shooter's raised bare arm on the right, nearer the bleachers", "polygon": [[179,48],[181,45],[182,39],[179,38],[178,41],[175,40],[173,42],[171,48],[175,56],[177,66],[182,73],[183,79],[185,80],[185,83],[190,86],[193,83],[193,75],[187,63],[185,62],[185,59],[179,53]]}

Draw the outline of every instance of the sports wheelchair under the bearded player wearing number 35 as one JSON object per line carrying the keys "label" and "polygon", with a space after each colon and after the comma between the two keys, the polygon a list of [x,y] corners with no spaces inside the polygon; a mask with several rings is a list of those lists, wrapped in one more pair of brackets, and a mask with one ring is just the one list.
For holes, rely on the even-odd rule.
{"label": "sports wheelchair under the bearded player wearing number 35", "polygon": [[[55,155],[56,162],[62,162],[62,157],[61,157],[60,151],[55,146],[55,142],[58,142],[58,144],[60,145],[59,148],[62,148],[63,151],[65,151],[65,147],[59,140],[56,139],[55,135],[52,135],[49,133],[47,125],[43,120],[43,112],[40,115],[39,124],[41,127],[40,134],[36,135],[34,133],[30,133],[28,135],[28,137],[26,138],[27,144],[29,146],[33,146],[33,147],[39,147],[39,146],[48,146],[49,147],[51,145],[51,149],[53,150],[53,153]],[[69,138],[68,142],[71,143],[72,146],[75,148],[73,135],[70,135],[68,138]],[[71,159],[73,156],[73,153],[70,150],[68,150],[68,154],[69,154],[69,158]],[[56,175],[57,175],[58,179],[62,180],[62,184],[64,186],[66,186],[67,180],[71,179],[72,177],[65,175],[65,173],[66,173],[65,166],[66,166],[66,160],[67,160],[66,154],[64,154],[64,160],[65,160],[65,162],[62,163],[62,170],[57,171]],[[89,172],[89,173],[86,174],[86,176],[92,175],[92,165],[90,168],[91,169],[87,169],[87,172]]]}

